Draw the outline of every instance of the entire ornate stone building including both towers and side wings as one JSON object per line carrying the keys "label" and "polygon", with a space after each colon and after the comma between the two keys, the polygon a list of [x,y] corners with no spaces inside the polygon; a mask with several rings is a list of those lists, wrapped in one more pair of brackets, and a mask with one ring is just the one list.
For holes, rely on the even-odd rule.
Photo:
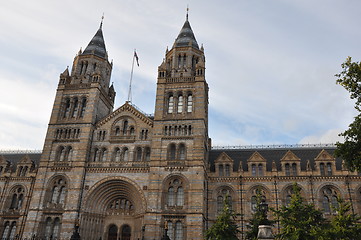
{"label": "entire ornate stone building including both towers and side wings", "polygon": [[203,239],[226,197],[243,231],[257,191],[278,208],[294,182],[325,216],[337,195],[361,212],[361,179],[334,146],[212,149],[188,16],[158,68],[154,116],[130,102],[113,110],[111,71],[100,26],[60,74],[42,154],[0,158],[2,239],[70,239],[74,226],[91,240]]}

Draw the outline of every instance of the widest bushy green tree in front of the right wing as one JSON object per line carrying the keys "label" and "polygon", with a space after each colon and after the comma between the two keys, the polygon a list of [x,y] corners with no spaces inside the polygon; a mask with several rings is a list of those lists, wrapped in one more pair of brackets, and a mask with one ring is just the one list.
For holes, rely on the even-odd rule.
{"label": "widest bushy green tree in front of the right wing", "polygon": [[322,239],[325,219],[313,204],[304,201],[300,187],[293,185],[291,202],[279,210],[272,210],[281,224],[277,239],[313,240]]}

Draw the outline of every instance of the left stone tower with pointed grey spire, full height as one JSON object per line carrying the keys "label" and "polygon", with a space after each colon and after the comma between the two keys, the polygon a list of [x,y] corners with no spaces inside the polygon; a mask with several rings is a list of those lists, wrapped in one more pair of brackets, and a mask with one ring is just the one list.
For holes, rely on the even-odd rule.
{"label": "left stone tower with pointed grey spire, full height", "polygon": [[85,50],[74,58],[71,73],[67,68],[60,74],[33,186],[26,237],[32,237],[30,233],[56,237],[61,223],[62,237],[70,238],[79,219],[94,124],[113,111],[111,71],[101,23]]}

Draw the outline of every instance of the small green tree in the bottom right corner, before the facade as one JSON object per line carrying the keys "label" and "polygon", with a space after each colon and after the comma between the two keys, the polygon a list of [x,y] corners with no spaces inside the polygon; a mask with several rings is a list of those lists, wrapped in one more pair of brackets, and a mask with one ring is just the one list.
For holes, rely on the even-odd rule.
{"label": "small green tree in the bottom right corner, before the facade", "polygon": [[326,239],[353,240],[361,239],[361,224],[356,214],[351,213],[351,203],[337,199],[336,215],[332,217],[326,230]]}

